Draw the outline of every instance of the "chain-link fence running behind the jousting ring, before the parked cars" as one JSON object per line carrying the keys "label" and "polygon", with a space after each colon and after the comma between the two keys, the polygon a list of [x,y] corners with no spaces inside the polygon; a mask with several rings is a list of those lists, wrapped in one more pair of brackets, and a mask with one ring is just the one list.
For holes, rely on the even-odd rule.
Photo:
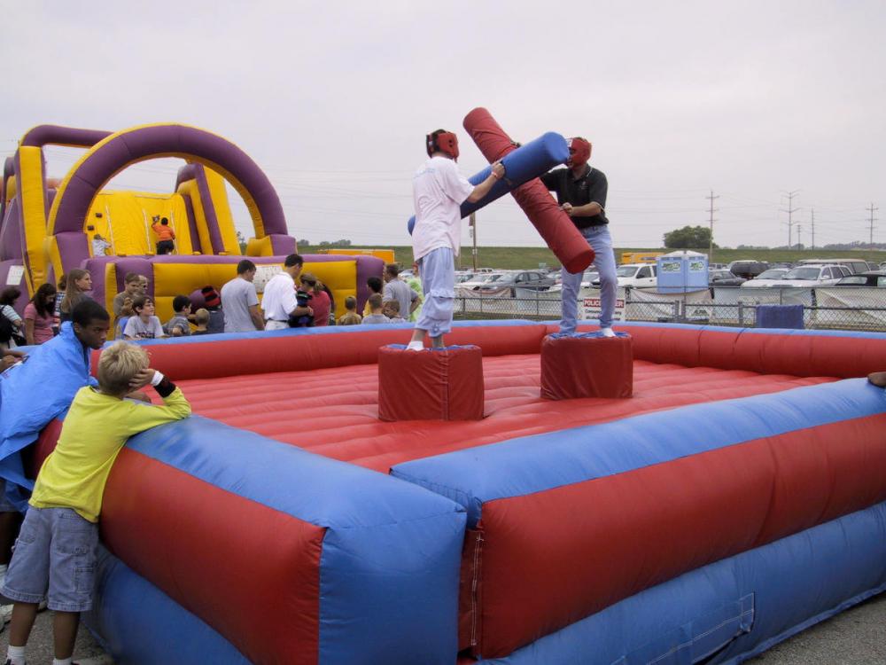
{"label": "chain-link fence running behind the jousting ring, before the parked cars", "polygon": [[[599,291],[579,293],[579,317],[596,318]],[[694,293],[665,294],[618,289],[616,319],[753,327],[758,305],[802,305],[806,328],[886,332],[886,289],[874,287],[742,288],[717,286]],[[560,293],[518,291],[480,296],[458,293],[456,319],[525,318],[551,321],[561,316]]]}

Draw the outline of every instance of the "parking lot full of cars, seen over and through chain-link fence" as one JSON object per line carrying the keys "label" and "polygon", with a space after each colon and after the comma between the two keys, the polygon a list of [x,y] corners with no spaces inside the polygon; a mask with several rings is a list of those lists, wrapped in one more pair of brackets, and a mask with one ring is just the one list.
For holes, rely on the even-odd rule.
{"label": "parking lot full of cars, seen over and through chain-link fence", "polygon": [[[616,319],[622,321],[694,323],[754,327],[760,305],[800,305],[808,329],[886,331],[886,274],[867,271],[835,278],[836,266],[801,266],[798,274],[813,270],[831,278],[804,286],[804,280],[767,278],[773,270],[788,276],[789,269],[760,270],[759,279],[714,279],[722,270],[709,271],[701,286],[664,287],[652,264],[619,267]],[[732,274],[732,273],[728,273]],[[544,270],[485,270],[462,272],[455,286],[456,318],[532,318],[556,320],[561,314],[559,272]],[[861,284],[861,282],[866,282]],[[763,283],[765,286],[758,286]],[[812,282],[808,282],[812,285]],[[579,291],[579,316],[596,318],[600,311],[599,275],[588,270]]]}

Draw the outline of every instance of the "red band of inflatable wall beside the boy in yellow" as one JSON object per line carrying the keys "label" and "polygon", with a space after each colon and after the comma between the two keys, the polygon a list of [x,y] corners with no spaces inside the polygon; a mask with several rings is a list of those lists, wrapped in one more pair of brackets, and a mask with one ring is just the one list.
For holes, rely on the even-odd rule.
{"label": "red band of inflatable wall beside the boy in yellow", "polygon": [[108,549],[179,605],[213,617],[213,628],[251,661],[298,653],[288,662],[317,662],[324,528],[128,448],[102,505]]}

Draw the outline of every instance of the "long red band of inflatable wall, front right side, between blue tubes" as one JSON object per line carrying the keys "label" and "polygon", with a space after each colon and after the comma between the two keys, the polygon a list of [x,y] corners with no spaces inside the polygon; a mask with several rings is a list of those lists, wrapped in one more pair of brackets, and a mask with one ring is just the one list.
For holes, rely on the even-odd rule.
{"label": "long red band of inflatable wall, front right side, between blue tubes", "polygon": [[462,584],[462,612],[475,611],[462,614],[460,645],[473,636],[473,653],[504,657],[688,570],[886,500],[884,427],[881,414],[484,504],[481,548],[462,559],[462,581],[479,589],[471,602]]}

